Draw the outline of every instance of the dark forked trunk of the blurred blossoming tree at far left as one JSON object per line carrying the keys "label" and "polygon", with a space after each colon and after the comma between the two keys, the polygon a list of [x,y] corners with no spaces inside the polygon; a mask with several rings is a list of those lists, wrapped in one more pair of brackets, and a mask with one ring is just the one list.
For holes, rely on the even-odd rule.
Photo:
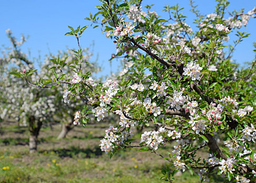
{"label": "dark forked trunk of the blurred blossoming tree at far left", "polygon": [[34,153],[37,151],[37,137],[41,129],[42,122],[38,121],[36,124],[36,119],[34,116],[29,117],[29,153]]}

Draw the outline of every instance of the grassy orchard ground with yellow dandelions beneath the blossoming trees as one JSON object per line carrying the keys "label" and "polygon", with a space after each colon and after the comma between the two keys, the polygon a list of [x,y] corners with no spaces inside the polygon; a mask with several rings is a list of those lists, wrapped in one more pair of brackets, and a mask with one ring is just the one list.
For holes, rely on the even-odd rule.
{"label": "grassy orchard ground with yellow dandelions beneath the blossoming trees", "polygon": [[[38,152],[29,154],[27,127],[18,127],[15,122],[1,123],[0,182],[163,182],[159,179],[161,169],[167,166],[165,159],[132,148],[117,152],[110,160],[100,150],[107,125],[76,127],[62,140],[56,138],[60,124],[43,128]],[[171,146],[159,148],[158,153],[172,152]],[[206,151],[198,152],[198,156],[207,155]],[[176,173],[175,178],[177,182],[200,182],[198,175],[188,172]]]}

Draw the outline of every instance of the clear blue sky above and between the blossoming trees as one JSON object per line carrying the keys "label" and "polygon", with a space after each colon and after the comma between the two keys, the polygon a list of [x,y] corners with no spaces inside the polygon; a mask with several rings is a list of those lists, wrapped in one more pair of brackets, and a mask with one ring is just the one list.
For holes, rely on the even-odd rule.
{"label": "clear blue sky above and between the blossoming trees", "polygon": [[[198,9],[203,14],[214,12],[216,2],[213,0],[194,0],[198,4]],[[231,0],[229,10],[245,9],[247,13],[256,6],[255,0]],[[189,12],[189,0],[144,0],[142,6],[155,4],[152,10],[155,10],[162,18],[167,19],[167,13],[162,12],[165,4],[184,7],[184,15],[188,17],[187,24],[191,25],[194,15]],[[10,45],[5,30],[11,29],[14,35],[19,39],[22,35],[29,35],[29,39],[23,45],[23,52],[28,53],[30,49],[31,58],[38,57],[38,50],[42,60],[44,55],[49,53],[56,54],[58,50],[66,48],[77,48],[77,42],[72,36],[64,36],[69,31],[68,26],[77,27],[79,25],[91,25],[91,22],[84,20],[89,17],[89,13],[97,13],[94,8],[100,5],[98,0],[2,0],[0,5],[0,45]],[[145,8],[143,8],[145,10]],[[172,23],[172,22],[170,22]],[[192,27],[194,28],[194,27]],[[237,47],[234,54],[234,60],[238,63],[252,61],[254,53],[252,52],[252,43],[256,41],[256,19],[250,19],[247,29],[242,29],[251,33],[251,36]],[[231,35],[234,35],[232,32]],[[232,40],[234,36],[230,36]],[[115,44],[101,33],[101,28],[92,29],[89,27],[80,39],[81,47],[86,48],[94,42],[94,56],[92,60],[98,58],[98,63],[102,67],[100,75],[108,75],[110,72],[120,71],[117,61],[113,60],[110,66],[108,60],[112,53],[115,53]],[[231,41],[229,41],[231,43]]]}

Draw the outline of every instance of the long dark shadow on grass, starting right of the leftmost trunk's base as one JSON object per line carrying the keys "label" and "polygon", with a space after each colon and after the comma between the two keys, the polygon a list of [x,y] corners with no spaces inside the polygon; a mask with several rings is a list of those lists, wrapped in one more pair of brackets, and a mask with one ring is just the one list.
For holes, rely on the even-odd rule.
{"label": "long dark shadow on grass, starting right of the leftmost trunk's base", "polygon": [[71,146],[69,148],[57,148],[57,150],[40,151],[39,153],[48,154],[54,152],[59,157],[79,157],[90,158],[101,156],[102,151],[99,146],[92,146],[88,148],[80,148],[77,146]]}

